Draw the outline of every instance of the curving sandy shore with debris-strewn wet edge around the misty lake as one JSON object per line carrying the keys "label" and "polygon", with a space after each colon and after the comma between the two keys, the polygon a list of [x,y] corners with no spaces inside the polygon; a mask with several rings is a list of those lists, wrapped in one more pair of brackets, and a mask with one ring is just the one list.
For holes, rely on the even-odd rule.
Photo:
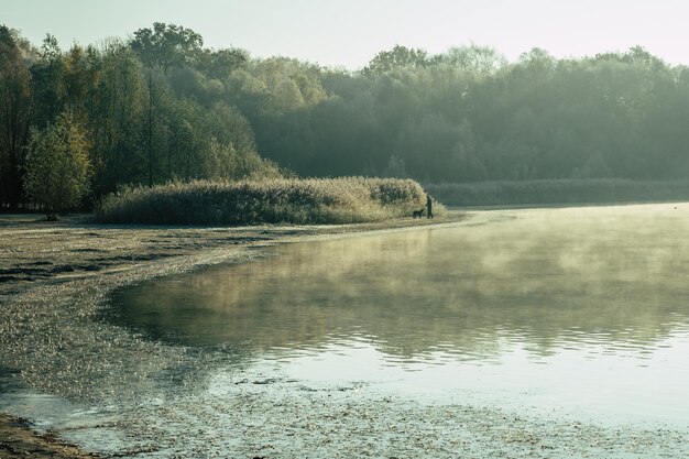
{"label": "curving sandy shore with debris-strewn wet edge around the misty lake", "polygon": [[[471,394],[425,404],[365,385],[305,386],[272,370],[229,367],[231,352],[152,342],[102,319],[112,289],[146,278],[250,261],[284,242],[463,219],[151,228],[0,217],[0,381],[36,394],[25,413],[0,416],[0,457],[688,457],[686,429],[486,408]],[[2,389],[0,406],[12,392]],[[79,416],[53,431],[36,424],[42,404]]]}

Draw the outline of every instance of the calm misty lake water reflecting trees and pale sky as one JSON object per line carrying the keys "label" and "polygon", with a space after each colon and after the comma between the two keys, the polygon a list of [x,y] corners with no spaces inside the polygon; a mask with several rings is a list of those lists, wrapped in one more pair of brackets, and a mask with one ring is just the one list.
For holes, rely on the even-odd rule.
{"label": "calm misty lake water reflecting trees and pale sky", "polygon": [[479,212],[155,280],[117,320],[311,386],[686,426],[688,234],[689,205]]}

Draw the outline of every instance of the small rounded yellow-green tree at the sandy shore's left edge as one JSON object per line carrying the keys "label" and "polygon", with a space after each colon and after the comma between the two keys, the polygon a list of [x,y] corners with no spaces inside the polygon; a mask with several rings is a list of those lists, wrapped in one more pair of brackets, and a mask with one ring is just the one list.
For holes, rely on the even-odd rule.
{"label": "small rounded yellow-green tree at the sandy shore's left edge", "polygon": [[25,193],[48,220],[76,206],[88,192],[90,144],[75,116],[65,111],[55,124],[31,134]]}

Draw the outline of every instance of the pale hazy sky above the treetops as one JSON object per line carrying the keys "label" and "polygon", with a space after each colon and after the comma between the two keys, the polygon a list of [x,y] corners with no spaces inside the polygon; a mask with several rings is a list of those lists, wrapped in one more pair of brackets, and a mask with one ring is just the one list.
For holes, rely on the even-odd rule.
{"label": "pale hazy sky above the treetops", "polygon": [[362,67],[395,44],[440,53],[474,42],[513,61],[534,46],[557,57],[642,45],[689,65],[681,0],[0,0],[0,23],[40,44],[124,37],[154,21],[190,28],[206,46]]}

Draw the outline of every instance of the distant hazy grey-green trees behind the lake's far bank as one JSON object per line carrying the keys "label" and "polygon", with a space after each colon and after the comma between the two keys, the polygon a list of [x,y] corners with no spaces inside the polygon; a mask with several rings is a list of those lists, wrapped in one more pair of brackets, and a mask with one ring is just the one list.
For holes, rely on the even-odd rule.
{"label": "distant hazy grey-green trees behind the lake's far bank", "polygon": [[318,103],[248,111],[261,153],[300,174],[423,183],[689,175],[689,69],[638,47],[581,59],[533,50],[507,64],[478,46],[433,56],[397,46],[361,73],[326,69],[315,81],[326,94]]}

